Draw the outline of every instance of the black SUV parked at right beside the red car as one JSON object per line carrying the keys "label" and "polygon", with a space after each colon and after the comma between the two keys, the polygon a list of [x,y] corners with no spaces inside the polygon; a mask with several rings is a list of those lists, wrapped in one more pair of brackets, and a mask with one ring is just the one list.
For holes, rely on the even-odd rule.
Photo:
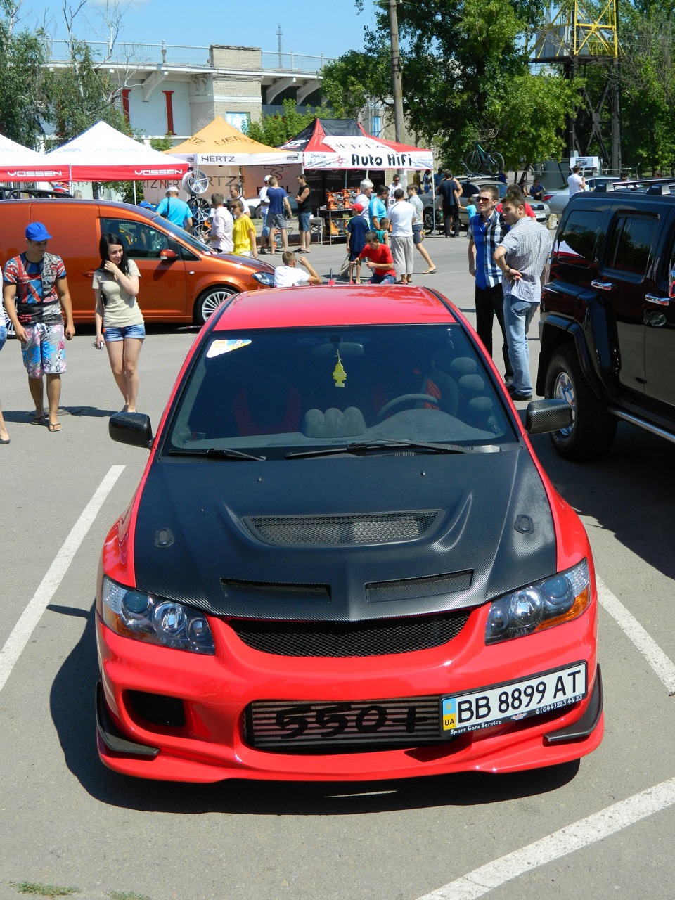
{"label": "black SUV parked at right beside the red car", "polygon": [[[675,185],[673,185],[675,191]],[[542,293],[536,392],[572,405],[558,452],[599,459],[625,419],[675,442],[675,193],[668,184],[579,193]]]}

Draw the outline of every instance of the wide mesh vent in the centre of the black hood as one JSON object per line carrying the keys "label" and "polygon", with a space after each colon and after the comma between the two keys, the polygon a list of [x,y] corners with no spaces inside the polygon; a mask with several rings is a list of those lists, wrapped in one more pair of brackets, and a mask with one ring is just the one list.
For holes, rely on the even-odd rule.
{"label": "wide mesh vent in the centre of the black hood", "polygon": [[391,544],[423,535],[440,510],[376,512],[347,516],[248,516],[249,530],[268,544]]}

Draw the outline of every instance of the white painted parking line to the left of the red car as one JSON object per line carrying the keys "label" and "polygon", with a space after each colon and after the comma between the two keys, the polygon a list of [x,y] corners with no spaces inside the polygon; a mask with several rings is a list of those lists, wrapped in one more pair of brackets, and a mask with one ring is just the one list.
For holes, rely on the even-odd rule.
{"label": "white painted parking line to the left of the red car", "polygon": [[77,519],[63,546],[56,554],[54,562],[49,566],[47,574],[40,581],[38,590],[35,591],[30,603],[23,610],[19,621],[12,630],[12,634],[9,635],[3,649],[0,650],[0,690],[4,688],[6,680],[14,669],[14,664],[23,653],[25,645],[28,644],[33,629],[40,622],[42,613],[47,608],[49,600],[54,596],[58,585],[63,581],[68,566],[72,563],[73,557],[84,541],[87,531],[94,523],[98,510],[103,506],[105,498],[112,491],[112,486],[123,471],[123,465],[113,465],[103,482],[99,484],[94,496],[87,503],[82,515]]}

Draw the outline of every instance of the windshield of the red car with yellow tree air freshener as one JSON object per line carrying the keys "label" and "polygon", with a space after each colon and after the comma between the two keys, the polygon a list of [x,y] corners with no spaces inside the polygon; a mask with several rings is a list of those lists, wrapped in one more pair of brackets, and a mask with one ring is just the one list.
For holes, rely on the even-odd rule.
{"label": "windshield of the red car with yellow tree air freshener", "polygon": [[505,444],[517,438],[492,377],[458,324],[211,334],[162,453],[271,459],[387,441]]}

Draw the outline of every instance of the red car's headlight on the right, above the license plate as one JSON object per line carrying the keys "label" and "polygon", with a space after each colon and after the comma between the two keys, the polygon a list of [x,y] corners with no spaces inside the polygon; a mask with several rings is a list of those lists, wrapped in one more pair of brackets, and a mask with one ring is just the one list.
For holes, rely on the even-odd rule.
{"label": "red car's headlight on the right, above the license plate", "polygon": [[492,600],[485,626],[485,643],[510,641],[581,616],[590,605],[587,560],[569,569]]}

